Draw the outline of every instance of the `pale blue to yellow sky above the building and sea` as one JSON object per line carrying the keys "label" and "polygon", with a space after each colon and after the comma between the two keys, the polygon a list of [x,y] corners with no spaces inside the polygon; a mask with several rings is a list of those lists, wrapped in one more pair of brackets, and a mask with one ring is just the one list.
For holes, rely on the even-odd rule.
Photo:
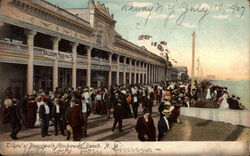
{"label": "pale blue to yellow sky above the building and sea", "polygon": [[[87,8],[88,0],[48,0],[61,8]],[[247,0],[99,0],[114,14],[122,37],[160,54],[151,42],[167,42],[173,66],[187,66],[191,75],[192,33],[195,59],[203,76],[248,79],[249,2]],[[96,2],[96,0],[95,0]],[[138,40],[150,35],[150,40]],[[174,59],[176,62],[172,61]],[[197,69],[197,61],[196,61]],[[197,70],[196,74],[197,75]]]}

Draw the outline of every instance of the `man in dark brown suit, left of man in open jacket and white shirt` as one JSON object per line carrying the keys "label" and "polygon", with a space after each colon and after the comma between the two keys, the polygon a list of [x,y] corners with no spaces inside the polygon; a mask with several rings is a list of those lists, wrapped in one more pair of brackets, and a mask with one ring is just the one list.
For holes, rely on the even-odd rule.
{"label": "man in dark brown suit, left of man in open jacket and white shirt", "polygon": [[83,118],[80,102],[80,100],[71,100],[73,106],[69,110],[69,124],[73,131],[73,141],[80,141],[82,138]]}

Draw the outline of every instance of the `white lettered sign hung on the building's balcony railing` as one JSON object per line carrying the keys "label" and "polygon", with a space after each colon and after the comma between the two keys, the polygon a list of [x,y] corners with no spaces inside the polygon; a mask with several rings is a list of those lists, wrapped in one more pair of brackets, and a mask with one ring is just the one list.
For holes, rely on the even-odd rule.
{"label": "white lettered sign hung on the building's balcony railing", "polygon": [[42,55],[44,57],[54,59],[54,60],[73,62],[73,54],[72,53],[55,52],[53,50],[44,49],[42,51]]}

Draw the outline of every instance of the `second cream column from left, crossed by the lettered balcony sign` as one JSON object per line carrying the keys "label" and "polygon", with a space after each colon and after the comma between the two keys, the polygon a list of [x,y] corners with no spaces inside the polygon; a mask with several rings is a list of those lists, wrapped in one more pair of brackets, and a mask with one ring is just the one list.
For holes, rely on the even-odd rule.
{"label": "second cream column from left, crossed by the lettered balcony sign", "polygon": [[[52,38],[53,42],[53,50],[58,53],[58,46],[59,46],[59,41],[61,39],[57,37]],[[56,88],[58,87],[58,60],[54,60],[54,65],[53,65],[53,91],[56,91]]]}

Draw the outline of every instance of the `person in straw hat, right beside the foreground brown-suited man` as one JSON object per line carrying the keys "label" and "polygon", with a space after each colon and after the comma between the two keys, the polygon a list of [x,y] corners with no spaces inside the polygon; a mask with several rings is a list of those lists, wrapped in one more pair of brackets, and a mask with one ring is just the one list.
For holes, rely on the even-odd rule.
{"label": "person in straw hat, right beside the foreground brown-suited man", "polygon": [[170,115],[170,111],[167,109],[164,109],[162,112],[162,118],[158,121],[158,141],[161,141],[161,139],[164,136],[164,133],[166,135],[167,131],[169,131],[170,129],[170,124],[171,124],[171,118]]}

